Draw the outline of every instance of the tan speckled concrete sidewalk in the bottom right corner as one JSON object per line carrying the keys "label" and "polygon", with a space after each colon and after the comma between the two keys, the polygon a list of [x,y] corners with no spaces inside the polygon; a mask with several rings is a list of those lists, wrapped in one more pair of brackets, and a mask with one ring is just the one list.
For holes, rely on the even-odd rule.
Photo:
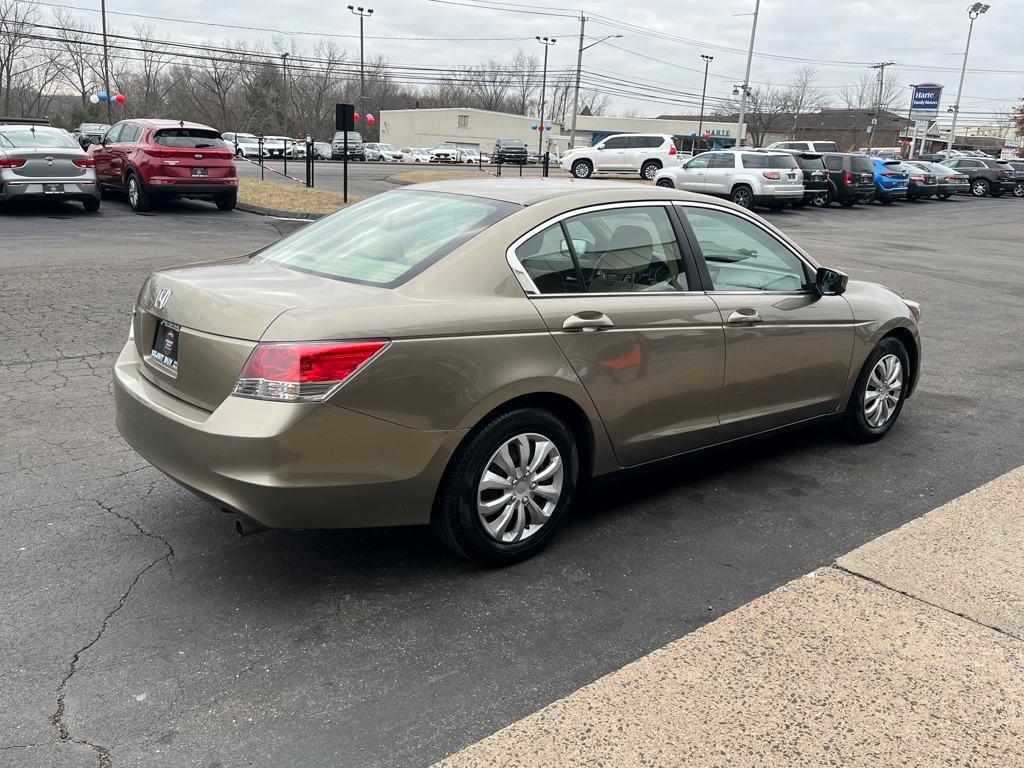
{"label": "tan speckled concrete sidewalk in the bottom right corner", "polygon": [[1024,767],[1024,468],[438,766]]}

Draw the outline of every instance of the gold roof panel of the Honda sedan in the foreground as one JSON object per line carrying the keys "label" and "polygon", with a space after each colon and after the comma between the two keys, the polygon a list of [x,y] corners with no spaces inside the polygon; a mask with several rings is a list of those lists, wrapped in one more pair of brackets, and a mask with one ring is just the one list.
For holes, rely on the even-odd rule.
{"label": "gold roof panel of the Honda sedan in the foreground", "polygon": [[458,179],[431,181],[407,188],[488,198],[523,206],[560,199],[565,200],[566,206],[569,208],[577,202],[585,205],[599,204],[602,202],[600,200],[602,197],[606,198],[608,203],[626,200],[699,200],[702,202],[709,200],[701,195],[690,195],[677,189],[633,181],[563,178]]}

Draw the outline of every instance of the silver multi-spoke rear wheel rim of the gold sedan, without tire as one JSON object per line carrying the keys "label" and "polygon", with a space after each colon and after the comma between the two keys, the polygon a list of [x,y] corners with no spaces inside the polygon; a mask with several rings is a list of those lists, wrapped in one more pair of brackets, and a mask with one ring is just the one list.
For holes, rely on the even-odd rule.
{"label": "silver multi-spoke rear wheel rim of the gold sedan, without tire", "polygon": [[509,438],[484,465],[477,484],[476,513],[483,529],[502,544],[529,539],[557,509],[563,476],[553,440],[536,432]]}

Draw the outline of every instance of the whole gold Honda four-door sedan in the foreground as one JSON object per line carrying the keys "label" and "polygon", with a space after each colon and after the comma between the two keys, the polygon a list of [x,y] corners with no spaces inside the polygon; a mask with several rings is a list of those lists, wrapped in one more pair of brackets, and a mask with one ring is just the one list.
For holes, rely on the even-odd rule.
{"label": "whole gold Honda four-door sedan in the foreground", "polygon": [[724,201],[422,184],[151,275],[117,423],[243,532],[429,523],[504,564],[593,477],[820,419],[882,437],[920,311]]}

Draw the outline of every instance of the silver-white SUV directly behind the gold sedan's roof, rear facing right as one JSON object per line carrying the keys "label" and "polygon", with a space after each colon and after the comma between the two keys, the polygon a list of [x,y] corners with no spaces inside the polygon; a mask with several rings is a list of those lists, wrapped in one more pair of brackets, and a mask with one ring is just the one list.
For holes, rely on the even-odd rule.
{"label": "silver-white SUV directly behind the gold sedan's roof, rear facing right", "polygon": [[728,198],[743,208],[781,209],[804,199],[804,172],[796,158],[768,150],[706,152],[676,168],[658,171],[654,183]]}

